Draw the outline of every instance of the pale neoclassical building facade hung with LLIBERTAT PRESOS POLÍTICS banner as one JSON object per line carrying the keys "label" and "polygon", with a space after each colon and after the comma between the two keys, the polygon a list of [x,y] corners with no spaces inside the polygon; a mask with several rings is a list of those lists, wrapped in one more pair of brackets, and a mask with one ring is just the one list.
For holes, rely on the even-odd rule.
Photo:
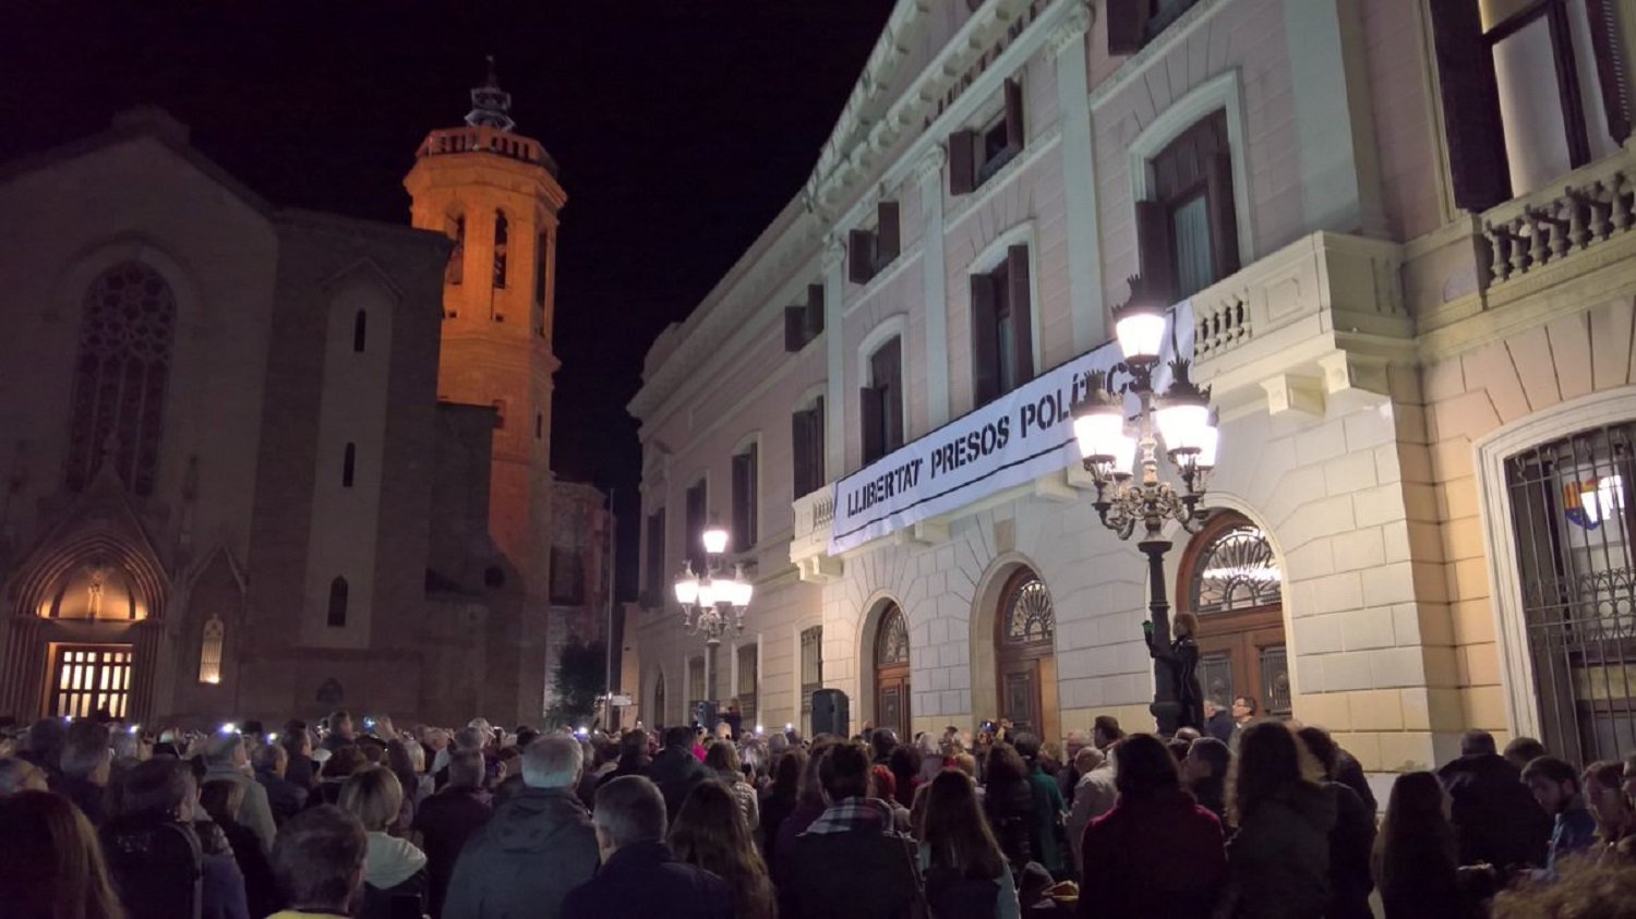
{"label": "pale neoclassical building facade hung with LLIBERTAT PRESOS POL\u00cdTICS banner", "polygon": [[[1371,772],[1466,728],[1636,749],[1636,23],[1512,7],[898,3],[630,404],[648,721],[839,688],[854,731],[1150,729],[1144,561],[1063,410],[1139,288],[1220,419],[1165,572],[1209,695]],[[1055,440],[934,487],[1018,437]],[[756,594],[707,682],[667,594],[713,517]]]}

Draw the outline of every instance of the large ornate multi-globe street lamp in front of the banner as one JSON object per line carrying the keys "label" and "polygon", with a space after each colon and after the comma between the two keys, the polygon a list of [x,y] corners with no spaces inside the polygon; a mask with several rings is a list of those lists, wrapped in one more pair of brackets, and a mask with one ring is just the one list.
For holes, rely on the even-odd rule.
{"label": "large ornate multi-globe street lamp in front of the banner", "polygon": [[[1073,437],[1080,445],[1085,471],[1096,484],[1096,509],[1103,525],[1121,540],[1140,527],[1137,548],[1147,556],[1148,648],[1153,652],[1153,718],[1162,734],[1180,726],[1178,667],[1170,648],[1170,602],[1165,595],[1165,553],[1170,540],[1162,531],[1175,520],[1188,533],[1204,525],[1204,486],[1216,468],[1219,432],[1209,404],[1209,388],[1189,379],[1189,361],[1170,363],[1173,379],[1163,392],[1153,391],[1153,370],[1165,340],[1165,307],[1132,293],[1130,303],[1114,311],[1114,329],[1124,361],[1088,381],[1090,396],[1075,407]],[[1124,378],[1117,381],[1117,378]],[[1126,417],[1126,396],[1137,397],[1137,414]],[[1158,445],[1175,466],[1181,487],[1158,477]],[[1196,664],[1196,661],[1194,661]],[[1202,724],[1194,724],[1202,728]]]}

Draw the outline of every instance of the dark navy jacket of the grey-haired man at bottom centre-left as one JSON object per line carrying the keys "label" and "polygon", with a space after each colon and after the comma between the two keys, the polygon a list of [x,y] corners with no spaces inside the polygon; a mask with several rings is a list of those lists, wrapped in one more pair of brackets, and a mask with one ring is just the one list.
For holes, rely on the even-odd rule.
{"label": "dark navy jacket of the grey-haired man at bottom centre-left", "polygon": [[635,842],[568,893],[563,919],[733,919],[733,891],[703,868],[677,862],[669,845]]}

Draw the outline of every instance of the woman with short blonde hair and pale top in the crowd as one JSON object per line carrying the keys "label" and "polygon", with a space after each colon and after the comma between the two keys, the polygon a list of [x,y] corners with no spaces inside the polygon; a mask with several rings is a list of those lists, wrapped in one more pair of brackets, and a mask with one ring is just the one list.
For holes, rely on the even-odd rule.
{"label": "woman with short blonde hair and pale top in the crowd", "polygon": [[[425,852],[412,842],[391,836],[389,829],[402,813],[402,783],[391,769],[366,765],[347,777],[337,806],[358,818],[370,834],[363,858],[363,916],[393,919],[402,912],[425,912]],[[404,906],[407,901],[411,906]]]}

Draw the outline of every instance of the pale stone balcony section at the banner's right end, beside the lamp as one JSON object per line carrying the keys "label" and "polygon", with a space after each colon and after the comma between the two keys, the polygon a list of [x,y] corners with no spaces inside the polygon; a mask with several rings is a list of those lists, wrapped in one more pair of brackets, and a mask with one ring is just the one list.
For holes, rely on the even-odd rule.
{"label": "pale stone balcony section at the banner's right end, beside the lamp", "polygon": [[1412,360],[1396,242],[1315,232],[1193,296],[1198,378],[1224,412],[1324,412],[1343,389],[1386,392]]}

